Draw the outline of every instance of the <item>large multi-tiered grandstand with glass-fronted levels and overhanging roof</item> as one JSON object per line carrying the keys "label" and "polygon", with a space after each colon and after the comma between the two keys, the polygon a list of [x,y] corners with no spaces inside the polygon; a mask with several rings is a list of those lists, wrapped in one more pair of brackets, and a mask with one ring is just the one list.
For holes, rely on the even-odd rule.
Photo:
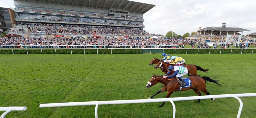
{"label": "large multi-tiered grandstand with glass-fronted levels and overhanging roof", "polygon": [[128,0],[14,0],[9,34],[23,37],[150,37],[143,14],[155,5]]}

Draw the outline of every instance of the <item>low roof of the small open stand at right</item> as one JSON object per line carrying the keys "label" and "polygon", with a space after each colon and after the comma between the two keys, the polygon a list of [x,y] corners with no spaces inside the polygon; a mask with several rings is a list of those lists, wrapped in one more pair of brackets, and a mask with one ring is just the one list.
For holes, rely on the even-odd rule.
{"label": "low roof of the small open stand at right", "polygon": [[206,27],[197,31],[250,31],[248,29],[243,29],[243,28],[223,28],[223,27]]}

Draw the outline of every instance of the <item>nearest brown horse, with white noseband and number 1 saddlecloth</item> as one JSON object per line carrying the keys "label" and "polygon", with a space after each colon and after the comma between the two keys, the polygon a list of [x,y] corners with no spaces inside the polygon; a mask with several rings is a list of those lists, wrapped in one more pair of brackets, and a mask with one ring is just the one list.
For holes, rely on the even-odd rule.
{"label": "nearest brown horse, with white noseband and number 1 saddlecloth", "polygon": [[[202,91],[206,95],[210,95],[210,93],[206,90],[206,80],[220,85],[218,83],[218,81],[213,80],[210,77],[206,77],[206,76],[204,76],[204,77],[189,76],[189,79],[191,80],[191,87],[182,88],[180,91],[193,89],[198,96],[201,96],[201,93],[199,91]],[[154,95],[149,97],[148,99],[151,99],[154,96],[156,96],[157,94],[164,92],[166,90],[167,90],[167,95],[165,98],[169,98],[170,95],[173,93],[173,91],[178,91],[180,89],[180,83],[177,81],[176,77],[163,78],[163,76],[156,76],[156,74],[154,74],[151,77],[151,79],[148,82],[148,84],[146,85],[146,87],[149,89],[151,86],[156,85],[156,83],[163,83],[164,87],[161,90],[159,90],[158,92],[156,92]],[[215,100],[215,99],[216,98],[213,98],[211,100]],[[200,102],[200,99],[198,99],[198,102]],[[160,105],[159,107],[164,106],[164,103],[165,102],[163,102],[162,105]]]}

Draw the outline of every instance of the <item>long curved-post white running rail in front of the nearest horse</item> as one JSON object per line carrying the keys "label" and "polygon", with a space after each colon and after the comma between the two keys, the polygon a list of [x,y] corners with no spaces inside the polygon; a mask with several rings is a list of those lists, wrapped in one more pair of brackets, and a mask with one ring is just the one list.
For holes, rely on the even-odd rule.
{"label": "long curved-post white running rail in front of the nearest horse", "polygon": [[210,98],[236,98],[238,99],[240,106],[236,118],[240,118],[243,102],[238,97],[252,97],[256,96],[256,93],[243,93],[243,94],[223,94],[223,95],[209,95],[209,96],[191,96],[191,97],[177,97],[177,98],[157,98],[157,99],[134,99],[134,100],[113,100],[113,101],[91,101],[91,102],[67,102],[67,103],[49,103],[40,104],[40,108],[43,107],[61,107],[61,106],[95,106],[95,118],[98,118],[98,106],[99,105],[112,105],[112,104],[132,104],[132,103],[150,103],[150,102],[168,102],[170,101],[173,106],[173,118],[175,118],[176,107],[173,101],[183,100],[196,100],[196,99],[210,99]]}

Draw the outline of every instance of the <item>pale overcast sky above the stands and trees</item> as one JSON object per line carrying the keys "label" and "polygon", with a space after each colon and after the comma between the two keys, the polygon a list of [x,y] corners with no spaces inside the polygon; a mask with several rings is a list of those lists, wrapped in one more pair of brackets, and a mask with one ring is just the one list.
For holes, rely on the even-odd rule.
{"label": "pale overcast sky above the stands and trees", "polygon": [[[256,32],[256,0],[132,1],[156,5],[144,14],[144,29],[149,33],[165,35],[173,30],[183,35],[196,31],[199,27],[221,27],[223,22],[227,23],[227,27]],[[0,0],[0,7],[14,7],[13,0]]]}

